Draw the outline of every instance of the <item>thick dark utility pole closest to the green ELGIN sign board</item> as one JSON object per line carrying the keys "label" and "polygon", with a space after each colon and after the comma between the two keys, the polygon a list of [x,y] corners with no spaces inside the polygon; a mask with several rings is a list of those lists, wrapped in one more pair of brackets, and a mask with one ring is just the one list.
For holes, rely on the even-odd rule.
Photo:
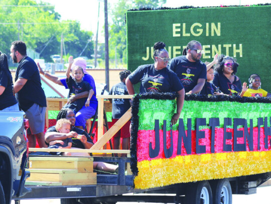
{"label": "thick dark utility pole closest to the green ELGIN sign board", "polygon": [[106,90],[109,91],[109,49],[108,49],[108,19],[107,19],[107,0],[104,0],[104,58],[105,58],[105,83],[107,84]]}

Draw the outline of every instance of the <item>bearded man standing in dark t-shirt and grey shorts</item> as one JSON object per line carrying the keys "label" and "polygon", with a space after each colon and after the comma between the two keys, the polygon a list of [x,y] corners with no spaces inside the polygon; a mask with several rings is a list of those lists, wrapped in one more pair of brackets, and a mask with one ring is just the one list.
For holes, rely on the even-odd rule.
{"label": "bearded man standing in dark t-shirt and grey shorts", "polygon": [[47,147],[44,139],[46,97],[41,87],[41,77],[34,60],[27,56],[27,47],[23,41],[15,41],[11,46],[11,57],[18,63],[15,75],[14,93],[20,108],[29,121],[29,147]]}

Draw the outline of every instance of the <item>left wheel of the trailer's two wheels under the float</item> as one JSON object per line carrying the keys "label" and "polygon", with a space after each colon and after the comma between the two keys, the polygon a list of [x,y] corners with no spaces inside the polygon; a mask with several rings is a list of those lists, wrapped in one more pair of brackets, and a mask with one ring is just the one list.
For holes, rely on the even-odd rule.
{"label": "left wheel of the trailer's two wheels under the float", "polygon": [[185,193],[185,204],[212,204],[212,189],[208,181],[192,183]]}

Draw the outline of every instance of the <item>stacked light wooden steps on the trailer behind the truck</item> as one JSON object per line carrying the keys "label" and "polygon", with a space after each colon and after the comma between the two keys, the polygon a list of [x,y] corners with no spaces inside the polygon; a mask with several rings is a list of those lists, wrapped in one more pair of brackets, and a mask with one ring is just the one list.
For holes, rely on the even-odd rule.
{"label": "stacked light wooden steps on the trailer behind the truck", "polygon": [[30,177],[26,185],[97,184],[93,158],[42,156],[29,157]]}

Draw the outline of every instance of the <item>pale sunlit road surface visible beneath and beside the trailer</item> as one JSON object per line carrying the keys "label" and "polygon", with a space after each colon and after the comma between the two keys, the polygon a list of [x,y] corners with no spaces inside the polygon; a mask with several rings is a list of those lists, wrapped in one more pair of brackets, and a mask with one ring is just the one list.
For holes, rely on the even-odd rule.
{"label": "pale sunlit road surface visible beneath and beside the trailer", "polygon": [[[232,195],[232,204],[271,204],[271,186],[258,187],[256,194],[251,195]],[[33,200],[21,200],[21,204],[60,204],[60,199],[33,199]],[[117,204],[124,204],[125,202],[117,202]],[[129,202],[129,204],[135,204],[139,202]],[[153,204],[151,202],[140,202]],[[12,201],[14,204],[14,200]]]}

